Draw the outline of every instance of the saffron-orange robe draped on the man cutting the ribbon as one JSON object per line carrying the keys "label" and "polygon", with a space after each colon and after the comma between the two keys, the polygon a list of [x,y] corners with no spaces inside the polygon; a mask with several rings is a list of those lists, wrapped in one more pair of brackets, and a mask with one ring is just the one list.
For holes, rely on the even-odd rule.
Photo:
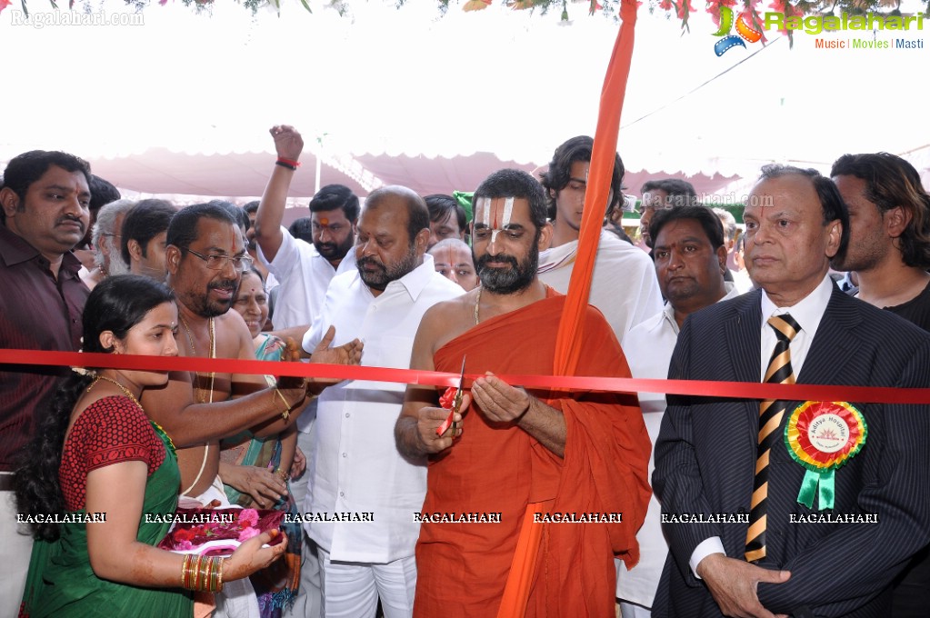
{"label": "saffron-orange robe draped on the man cutting the ribbon", "polygon": [[[565,296],[547,298],[475,326],[440,348],[437,371],[483,375],[551,375],[555,333]],[[587,309],[576,375],[629,377],[604,316]],[[515,385],[514,385],[515,386]],[[565,458],[520,427],[494,423],[477,405],[462,435],[433,455],[423,513],[500,513],[500,523],[421,524],[414,615],[497,614],[526,506],[549,501],[549,513],[622,513],[615,523],[539,523],[542,533],[526,615],[614,616],[617,555],[638,559],[636,532],[650,490],[651,448],[635,394],[529,391],[565,415]]]}

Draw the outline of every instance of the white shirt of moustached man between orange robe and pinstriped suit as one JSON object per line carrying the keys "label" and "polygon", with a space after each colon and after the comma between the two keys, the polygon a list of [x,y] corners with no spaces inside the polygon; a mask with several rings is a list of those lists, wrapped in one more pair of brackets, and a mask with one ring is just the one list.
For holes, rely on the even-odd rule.
{"label": "white shirt of moustached man between orange robe and pinstriped suit", "polygon": [[[739,296],[733,283],[726,282],[726,296],[717,302]],[[630,373],[635,378],[656,378],[664,380],[669,377],[671,352],[678,341],[678,322],[675,322],[675,310],[671,303],[645,322],[633,326],[623,337],[623,354],[630,364]],[[658,430],[662,426],[665,414],[665,395],[663,393],[638,393],[640,409],[643,411],[646,431],[653,444],[658,439]],[[649,454],[649,478],[655,469],[655,454]],[[643,527],[636,533],[640,546],[640,561],[632,571],[627,571],[622,560],[617,562],[617,598],[644,607],[652,607],[658,588],[658,579],[662,574],[669,546],[662,535],[659,515],[662,512],[656,496],[649,499]]]}

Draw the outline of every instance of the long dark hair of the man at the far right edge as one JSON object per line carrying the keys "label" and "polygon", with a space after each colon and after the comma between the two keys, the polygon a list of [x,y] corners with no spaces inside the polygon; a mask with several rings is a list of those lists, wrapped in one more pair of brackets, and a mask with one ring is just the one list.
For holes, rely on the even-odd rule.
{"label": "long dark hair of the man at the far right edge", "polygon": [[830,176],[865,181],[865,197],[882,215],[901,206],[910,215],[908,226],[898,236],[904,263],[930,269],[930,195],[913,165],[888,152],[844,154],[833,164]]}

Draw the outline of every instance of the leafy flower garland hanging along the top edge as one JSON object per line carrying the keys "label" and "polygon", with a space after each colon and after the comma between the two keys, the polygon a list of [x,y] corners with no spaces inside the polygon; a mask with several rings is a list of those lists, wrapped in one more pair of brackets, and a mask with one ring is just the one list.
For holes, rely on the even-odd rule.
{"label": "leafy flower garland hanging along the top edge", "polygon": [[[124,0],[126,5],[141,11],[149,7],[153,2],[158,5],[166,5],[169,0]],[[173,0],[183,3],[185,7],[192,7],[193,10],[203,11],[212,7],[214,0]],[[365,0],[370,1],[370,0]],[[392,0],[397,7],[401,7],[407,0]],[[417,0],[418,2],[421,0]],[[465,11],[481,10],[498,3],[514,10],[532,10],[541,15],[558,13],[561,20],[568,20],[568,3],[586,4],[590,15],[601,13],[604,16],[618,20],[620,2],[622,0],[434,0],[440,14],[450,7],[458,6]],[[48,0],[52,8],[59,8],[56,0]],[[281,5],[288,0],[235,0],[238,4],[249,9],[255,14],[259,8],[271,6],[281,11]],[[331,7],[339,11],[342,15],[349,10],[348,0],[329,0]],[[796,3],[790,4],[790,0],[770,0],[771,4],[762,7],[764,0],[705,0],[705,10],[711,13],[714,22],[720,24],[721,7],[737,7],[740,12],[745,13],[753,25],[760,25],[762,20],[759,17],[759,11],[764,8],[770,8],[776,12],[784,13],[787,17],[804,15],[836,15],[848,13],[849,15],[864,15],[867,12],[881,12],[886,15],[900,16],[901,0],[797,0]],[[923,12],[930,17],[930,0],[921,0],[923,3]],[[300,5],[312,13],[311,7],[307,0],[299,0]],[[603,3],[603,4],[602,4]],[[0,11],[10,6],[12,0],[0,0]],[[75,0],[69,0],[68,8],[73,9]],[[296,3],[295,3],[296,4]],[[23,13],[29,14],[26,0],[20,0],[20,6]],[[695,12],[693,0],[647,0],[647,6],[650,13],[665,11],[672,12],[682,23],[682,28],[687,29],[688,18]],[[737,9],[735,9],[737,10]]]}

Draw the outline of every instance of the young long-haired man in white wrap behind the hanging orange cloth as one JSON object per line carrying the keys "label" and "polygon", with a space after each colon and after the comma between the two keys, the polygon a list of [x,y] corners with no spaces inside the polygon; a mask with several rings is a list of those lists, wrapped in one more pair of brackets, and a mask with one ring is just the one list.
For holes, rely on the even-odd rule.
{"label": "young long-haired man in white wrap behind the hanging orange cloth", "polygon": [[[555,150],[549,171],[542,175],[542,186],[550,200],[549,215],[553,220],[551,248],[539,254],[539,280],[563,294],[568,292],[568,282],[578,254],[578,230],[584,210],[593,143],[594,140],[587,136],[569,139]],[[623,200],[622,182],[623,163],[617,155],[610,181],[608,211],[611,205],[616,208]],[[602,230],[589,302],[601,310],[617,339],[622,340],[631,327],[662,309],[662,298],[649,256]]]}

